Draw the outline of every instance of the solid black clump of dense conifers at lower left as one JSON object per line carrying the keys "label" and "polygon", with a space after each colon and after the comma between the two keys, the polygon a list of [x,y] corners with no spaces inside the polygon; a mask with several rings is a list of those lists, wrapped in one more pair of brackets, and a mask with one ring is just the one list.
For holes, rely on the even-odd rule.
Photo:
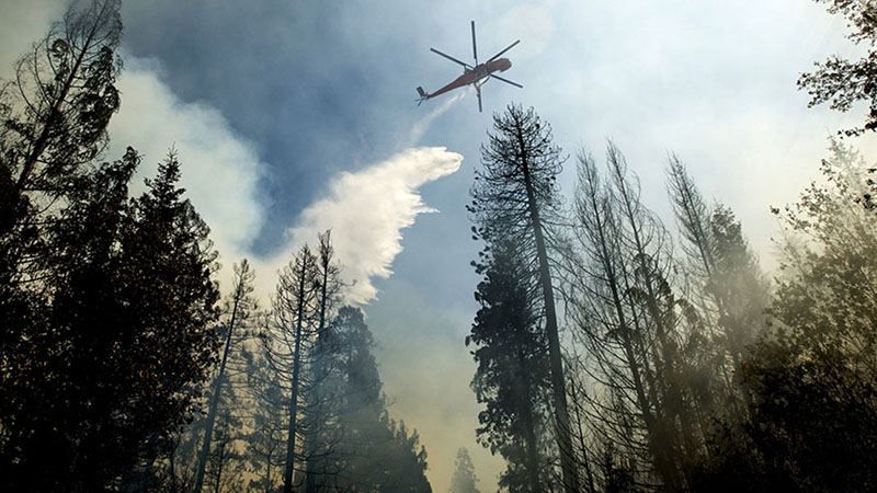
{"label": "solid black clump of dense conifers at lower left", "polygon": [[110,488],[196,410],[217,343],[215,252],[174,157],[127,199],[138,162],[129,149],[80,177],[47,229],[43,317],[4,348],[9,491]]}

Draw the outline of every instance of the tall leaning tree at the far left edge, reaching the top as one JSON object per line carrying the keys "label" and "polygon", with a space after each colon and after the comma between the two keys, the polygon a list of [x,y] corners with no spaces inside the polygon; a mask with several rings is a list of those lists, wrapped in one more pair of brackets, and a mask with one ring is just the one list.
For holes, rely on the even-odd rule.
{"label": "tall leaning tree at the far left edge, reaching the top", "polygon": [[[106,249],[124,222],[137,159],[130,151],[117,163],[93,161],[118,107],[121,30],[117,1],[75,3],[16,64],[15,79],[0,84],[0,477],[7,486],[21,479],[52,488],[81,472],[69,463],[71,444],[84,432],[76,424],[81,416],[67,412],[79,398],[75,386],[65,387],[65,367],[78,357],[65,354],[79,339],[78,321],[57,320],[52,305],[62,290],[86,289],[89,277],[98,283],[95,301],[110,296],[112,283],[99,279],[99,271],[113,265],[115,252]],[[80,309],[73,301],[58,306],[67,302]],[[57,426],[50,416],[59,417]],[[60,432],[68,425],[70,439]],[[36,457],[46,450],[58,458],[52,474],[38,470]]]}

